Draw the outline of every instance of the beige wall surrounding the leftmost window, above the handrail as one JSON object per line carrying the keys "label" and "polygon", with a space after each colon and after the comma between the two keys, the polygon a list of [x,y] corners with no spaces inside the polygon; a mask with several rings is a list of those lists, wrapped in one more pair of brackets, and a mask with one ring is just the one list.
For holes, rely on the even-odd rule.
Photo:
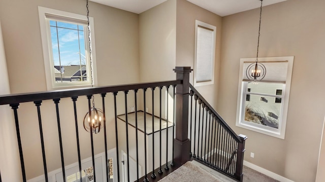
{"label": "beige wall surrounding the leftmost window, above the handrail", "polygon": [[[1,1],[12,93],[45,91],[38,6],[86,14],[84,1]],[[139,15],[89,2],[94,17],[98,85],[139,82]],[[109,32],[109,33],[108,33]]]}

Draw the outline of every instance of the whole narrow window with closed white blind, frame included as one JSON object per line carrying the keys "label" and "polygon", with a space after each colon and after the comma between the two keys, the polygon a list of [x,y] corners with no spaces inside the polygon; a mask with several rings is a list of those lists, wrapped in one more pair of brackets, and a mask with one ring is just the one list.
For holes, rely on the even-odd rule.
{"label": "whole narrow window with closed white blind, frame included", "polygon": [[194,86],[213,84],[216,27],[196,20]]}

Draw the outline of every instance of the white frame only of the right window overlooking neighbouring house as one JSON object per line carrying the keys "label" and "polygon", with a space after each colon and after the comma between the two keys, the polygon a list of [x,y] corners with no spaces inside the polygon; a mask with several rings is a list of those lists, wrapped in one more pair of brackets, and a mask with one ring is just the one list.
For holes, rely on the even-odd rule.
{"label": "white frame only of the right window overlooking neighbouring house", "polygon": [[[247,86],[246,86],[247,82],[243,81],[243,73],[244,73],[244,71],[246,71],[246,70],[243,70],[244,62],[255,62],[255,60],[256,60],[256,58],[241,58],[240,59],[236,126],[284,139],[286,121],[287,121],[289,95],[290,95],[290,86],[291,86],[291,75],[293,72],[293,64],[294,64],[294,56],[258,58],[258,62],[262,62],[262,63],[269,62],[269,61],[287,61],[288,62],[286,81],[282,88],[282,95],[274,94],[274,95],[276,95],[276,97],[281,98],[281,104],[282,104],[278,128],[272,128],[272,127],[264,126],[261,124],[246,122],[244,120],[246,94],[248,93]],[[266,74],[268,74],[268,72]],[[263,80],[260,82],[263,82]],[[251,93],[251,92],[249,92],[249,93]]]}

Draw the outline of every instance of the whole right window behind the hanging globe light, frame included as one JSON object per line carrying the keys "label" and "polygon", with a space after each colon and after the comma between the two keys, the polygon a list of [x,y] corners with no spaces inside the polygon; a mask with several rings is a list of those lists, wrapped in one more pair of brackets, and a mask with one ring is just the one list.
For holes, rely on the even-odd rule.
{"label": "whole right window behind the hanging globe light, frame included", "polygon": [[236,126],[284,139],[294,57],[259,58],[267,69],[259,82],[246,77],[254,61],[240,60]]}

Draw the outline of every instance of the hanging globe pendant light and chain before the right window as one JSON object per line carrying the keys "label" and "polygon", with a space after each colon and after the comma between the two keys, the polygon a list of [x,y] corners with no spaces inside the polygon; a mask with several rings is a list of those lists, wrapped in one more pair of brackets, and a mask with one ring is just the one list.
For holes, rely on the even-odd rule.
{"label": "hanging globe pendant light and chain before the right window", "polygon": [[261,81],[262,79],[264,79],[264,77],[266,75],[266,68],[265,68],[264,64],[262,64],[261,62],[258,62],[258,46],[259,46],[259,35],[260,35],[260,31],[261,31],[263,0],[259,0],[259,1],[261,1],[261,11],[259,13],[259,26],[258,26],[256,61],[251,63],[246,69],[246,77],[250,81],[254,81],[254,82]]}

